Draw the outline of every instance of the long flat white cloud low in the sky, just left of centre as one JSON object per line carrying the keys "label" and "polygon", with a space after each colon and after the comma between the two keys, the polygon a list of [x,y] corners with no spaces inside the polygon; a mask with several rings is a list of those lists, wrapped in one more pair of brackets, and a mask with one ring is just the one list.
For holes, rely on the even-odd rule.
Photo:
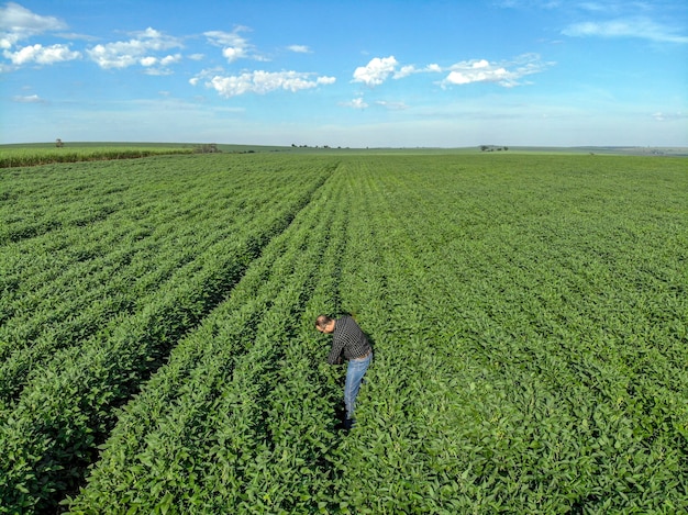
{"label": "long flat white cloud low in the sky, just left of centre", "polygon": [[[253,71],[238,76],[214,76],[206,86],[213,88],[221,97],[237,97],[244,93],[265,94],[279,89],[297,92],[321,85],[334,83],[334,77],[312,78],[313,74],[299,71]],[[198,81],[196,81],[198,82]]]}

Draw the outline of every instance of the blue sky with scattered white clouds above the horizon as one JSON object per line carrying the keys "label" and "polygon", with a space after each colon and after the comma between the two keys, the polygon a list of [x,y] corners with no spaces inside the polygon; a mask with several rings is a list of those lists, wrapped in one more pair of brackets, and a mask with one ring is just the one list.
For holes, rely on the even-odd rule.
{"label": "blue sky with scattered white clouds above the horizon", "polygon": [[0,143],[688,146],[688,3],[0,3]]}

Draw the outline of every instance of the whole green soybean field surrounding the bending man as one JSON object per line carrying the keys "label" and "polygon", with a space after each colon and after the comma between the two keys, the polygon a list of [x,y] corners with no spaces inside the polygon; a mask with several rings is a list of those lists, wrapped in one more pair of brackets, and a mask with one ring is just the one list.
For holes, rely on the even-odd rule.
{"label": "whole green soybean field surrounding the bending man", "polygon": [[0,513],[688,512],[686,163],[1,169]]}

